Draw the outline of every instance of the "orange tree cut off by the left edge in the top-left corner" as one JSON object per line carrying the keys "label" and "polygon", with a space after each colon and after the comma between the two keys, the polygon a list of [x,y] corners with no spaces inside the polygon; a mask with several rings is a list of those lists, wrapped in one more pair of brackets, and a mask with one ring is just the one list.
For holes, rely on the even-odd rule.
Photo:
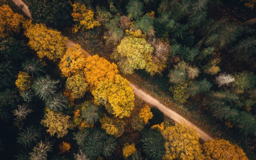
{"label": "orange tree cut off by the left edge in the top-left corner", "polygon": [[14,13],[10,6],[0,6],[0,39],[20,32],[20,24],[23,20],[24,17]]}

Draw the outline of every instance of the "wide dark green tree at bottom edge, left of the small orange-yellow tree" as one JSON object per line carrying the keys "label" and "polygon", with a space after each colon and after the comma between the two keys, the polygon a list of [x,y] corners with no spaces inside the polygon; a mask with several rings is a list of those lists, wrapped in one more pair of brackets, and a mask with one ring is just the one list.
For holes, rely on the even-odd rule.
{"label": "wide dark green tree at bottom edge, left of the small orange-yellow tree", "polygon": [[74,134],[74,139],[82,153],[90,159],[96,159],[101,154],[111,156],[116,149],[116,140],[99,129],[83,128]]}

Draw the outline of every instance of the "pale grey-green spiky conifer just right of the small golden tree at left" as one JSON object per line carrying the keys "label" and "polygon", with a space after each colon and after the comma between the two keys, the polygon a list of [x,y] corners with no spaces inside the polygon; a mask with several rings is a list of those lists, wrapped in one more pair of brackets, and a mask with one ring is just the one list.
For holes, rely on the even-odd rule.
{"label": "pale grey-green spiky conifer just right of the small golden tree at left", "polygon": [[32,89],[35,91],[35,95],[45,101],[56,92],[58,82],[51,79],[49,75],[38,77],[32,84]]}

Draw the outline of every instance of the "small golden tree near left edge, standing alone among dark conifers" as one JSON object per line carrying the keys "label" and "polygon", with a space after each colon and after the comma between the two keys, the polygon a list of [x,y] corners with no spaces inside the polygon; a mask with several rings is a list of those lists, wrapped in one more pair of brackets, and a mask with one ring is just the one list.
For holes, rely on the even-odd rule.
{"label": "small golden tree near left edge, standing alone among dark conifers", "polygon": [[20,92],[24,90],[29,90],[30,88],[30,76],[26,72],[20,71],[17,76],[17,80],[15,81],[15,85]]}

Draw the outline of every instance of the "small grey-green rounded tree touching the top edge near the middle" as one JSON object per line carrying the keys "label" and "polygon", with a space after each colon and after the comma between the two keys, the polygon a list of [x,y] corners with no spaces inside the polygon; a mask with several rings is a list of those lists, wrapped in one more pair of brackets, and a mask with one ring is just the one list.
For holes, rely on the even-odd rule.
{"label": "small grey-green rounded tree touching the top edge near the middle", "polygon": [[137,20],[143,15],[143,2],[140,0],[129,0],[126,9],[128,17]]}

